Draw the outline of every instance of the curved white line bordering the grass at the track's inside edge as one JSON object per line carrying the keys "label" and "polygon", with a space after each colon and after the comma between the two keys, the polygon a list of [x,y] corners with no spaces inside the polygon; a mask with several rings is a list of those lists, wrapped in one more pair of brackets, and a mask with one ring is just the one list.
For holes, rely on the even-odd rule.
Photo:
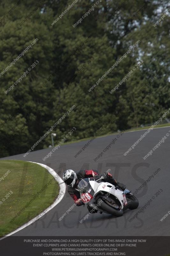
{"label": "curved white line bordering the grass at the track's inside edge", "polygon": [[[30,163],[34,163],[34,164],[39,164],[41,165],[42,167],[46,168],[48,170],[48,172],[53,176],[55,177],[55,175],[57,174],[52,168],[50,168],[49,166],[45,165],[45,164],[40,164],[40,163],[36,163],[36,162],[31,162],[31,161],[28,161]],[[59,183],[59,186],[60,186],[60,191],[59,193],[63,192],[64,194],[60,197],[60,198],[57,198],[55,200],[55,202],[53,204],[51,204],[51,208],[50,209],[47,209],[47,210],[44,210],[46,211],[44,214],[46,214],[47,212],[49,212],[52,208],[54,208],[58,203],[61,202],[61,200],[63,199],[64,195],[65,195],[65,191],[66,191],[66,185],[65,183],[63,183],[63,180],[60,178],[59,175],[57,175],[57,177],[55,177],[55,180]],[[49,207],[49,206],[48,206]],[[43,212],[44,212],[43,211]],[[42,212],[41,212],[42,213]],[[25,223],[24,225],[22,225],[21,227],[17,228],[16,230],[12,231],[11,233],[9,233],[8,235],[6,236],[3,236],[0,240],[6,238],[7,236],[11,236],[13,234],[15,234],[16,232],[20,231],[21,229],[23,228],[26,228],[27,226],[29,226],[33,221],[36,220],[36,218],[41,218],[42,216],[44,216],[44,214],[42,214],[41,216],[41,213],[39,215],[37,215],[36,217],[34,217],[32,220],[29,220],[27,223]]]}

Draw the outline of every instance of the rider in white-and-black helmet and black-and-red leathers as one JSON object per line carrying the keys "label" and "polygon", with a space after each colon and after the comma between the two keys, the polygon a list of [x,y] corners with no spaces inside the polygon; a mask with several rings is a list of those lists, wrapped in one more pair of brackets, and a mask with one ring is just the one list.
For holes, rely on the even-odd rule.
{"label": "rider in white-and-black helmet and black-and-red leathers", "polygon": [[[125,190],[126,186],[122,183],[117,182],[113,177],[112,174],[109,172],[105,172],[101,175],[103,178],[102,180],[105,182],[109,182],[115,186],[118,186],[122,190]],[[80,192],[78,191],[78,183],[85,178],[94,178],[96,181],[100,179],[99,173],[96,170],[80,170],[79,172],[74,172],[73,170],[69,169],[63,173],[63,181],[68,185],[68,193],[73,198],[74,203],[77,206],[83,205],[84,203],[80,199]],[[92,207],[87,205],[89,212],[92,210]],[[91,211],[92,213],[97,212],[96,210]]]}

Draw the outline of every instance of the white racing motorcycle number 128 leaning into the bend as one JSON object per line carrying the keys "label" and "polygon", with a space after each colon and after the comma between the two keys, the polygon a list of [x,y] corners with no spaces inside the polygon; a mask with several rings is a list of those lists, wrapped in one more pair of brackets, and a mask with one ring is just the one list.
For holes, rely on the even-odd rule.
{"label": "white racing motorcycle number 128 leaning into the bend", "polygon": [[102,182],[102,178],[97,181],[94,178],[86,178],[79,182],[78,191],[84,204],[100,213],[105,212],[118,217],[122,216],[125,210],[138,207],[139,202],[130,190],[122,191],[118,186]]}

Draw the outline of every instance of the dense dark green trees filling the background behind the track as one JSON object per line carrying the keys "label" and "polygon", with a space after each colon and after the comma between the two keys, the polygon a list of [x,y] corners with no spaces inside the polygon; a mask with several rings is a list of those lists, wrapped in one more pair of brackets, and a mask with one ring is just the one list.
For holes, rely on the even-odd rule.
{"label": "dense dark green trees filling the background behind the track", "polygon": [[[53,23],[71,3],[73,0],[21,1],[6,15],[15,4],[1,0],[0,73],[38,38],[0,75],[1,157],[26,152],[73,105],[76,107],[53,130],[55,144],[72,127],[77,130],[67,141],[94,135],[117,113],[103,134],[152,123],[170,107],[170,15],[153,26],[169,8],[169,1],[99,0],[74,28],[95,4],[79,0]],[[127,57],[89,92],[138,40]],[[36,60],[39,63],[26,77],[5,93]],[[139,60],[143,63],[109,93]],[[48,134],[34,150],[50,144]]]}

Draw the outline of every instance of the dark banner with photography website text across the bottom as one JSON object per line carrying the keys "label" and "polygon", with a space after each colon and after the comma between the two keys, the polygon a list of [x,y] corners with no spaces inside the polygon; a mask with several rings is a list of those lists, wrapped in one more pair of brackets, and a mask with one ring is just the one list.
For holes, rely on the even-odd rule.
{"label": "dark banner with photography website text across the bottom", "polygon": [[0,255],[170,256],[170,237],[8,236],[0,240]]}

